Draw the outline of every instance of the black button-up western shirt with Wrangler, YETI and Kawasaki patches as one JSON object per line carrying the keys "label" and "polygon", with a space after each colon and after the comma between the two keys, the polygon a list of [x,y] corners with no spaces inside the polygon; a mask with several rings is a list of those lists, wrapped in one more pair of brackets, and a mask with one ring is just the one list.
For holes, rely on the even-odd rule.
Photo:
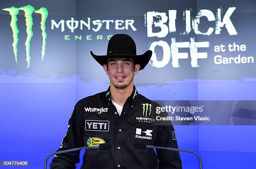
{"label": "black button-up western shirt with Wrangler, YETI and Kawasaki patches", "polygon": [[[86,150],[81,169],[181,169],[179,152],[157,149],[155,153],[154,149],[134,147],[136,142],[143,142],[178,148],[171,122],[159,125],[156,121],[157,106],[138,94],[135,86],[120,116],[110,98],[110,87],[85,97],[75,105],[58,151],[108,143],[112,145],[108,150]],[[79,152],[57,154],[51,169],[74,169]]]}

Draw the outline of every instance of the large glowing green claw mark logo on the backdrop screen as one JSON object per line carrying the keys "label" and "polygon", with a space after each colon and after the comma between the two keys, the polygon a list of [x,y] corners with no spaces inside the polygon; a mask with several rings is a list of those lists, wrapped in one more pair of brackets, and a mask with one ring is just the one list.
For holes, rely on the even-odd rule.
{"label": "large glowing green claw mark logo on the backdrop screen", "polygon": [[[14,52],[14,56],[15,56],[15,61],[18,63],[17,60],[17,53],[18,53],[18,49],[17,49],[17,45],[18,45],[18,27],[17,27],[17,15],[19,13],[19,10],[23,10],[25,12],[25,18],[26,18],[26,32],[27,32],[27,39],[25,42],[25,46],[26,46],[26,60],[28,63],[28,67],[30,65],[30,41],[31,38],[33,36],[33,31],[32,31],[32,26],[33,26],[33,18],[32,18],[32,14],[33,12],[35,13],[39,13],[41,14],[41,30],[42,30],[42,37],[43,37],[43,45],[42,45],[42,51],[41,51],[41,59],[44,60],[44,55],[45,55],[45,50],[46,50],[46,26],[45,26],[45,22],[46,19],[48,17],[48,10],[45,7],[41,7],[39,10],[36,10],[34,7],[32,7],[31,5],[26,5],[23,7],[8,7],[8,8],[4,8],[3,10],[8,11],[9,14],[11,15],[11,21],[10,21],[10,27],[12,28],[13,31],[13,52]],[[27,67],[27,68],[28,68]]]}

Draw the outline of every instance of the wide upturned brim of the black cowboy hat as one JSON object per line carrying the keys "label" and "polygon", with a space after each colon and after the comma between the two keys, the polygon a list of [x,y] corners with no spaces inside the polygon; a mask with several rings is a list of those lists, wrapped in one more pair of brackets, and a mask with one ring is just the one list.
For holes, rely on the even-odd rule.
{"label": "wide upturned brim of the black cowboy hat", "polygon": [[126,53],[113,53],[113,54],[108,54],[108,55],[95,55],[92,51],[90,51],[92,57],[100,64],[100,65],[106,65],[108,61],[108,57],[111,56],[123,56],[123,57],[133,57],[133,60],[136,64],[139,64],[140,70],[142,70],[149,62],[151,56],[152,56],[152,51],[147,50],[145,53],[142,55],[129,55]]}

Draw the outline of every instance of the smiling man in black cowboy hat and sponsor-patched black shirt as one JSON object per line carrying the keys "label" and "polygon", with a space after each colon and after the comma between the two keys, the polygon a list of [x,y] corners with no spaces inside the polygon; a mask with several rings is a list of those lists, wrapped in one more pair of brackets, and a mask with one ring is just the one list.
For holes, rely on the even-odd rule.
{"label": "smiling man in black cowboy hat and sponsor-patched black shirt", "polygon": [[[91,55],[109,76],[110,87],[77,102],[58,151],[108,143],[112,145],[109,150],[86,150],[81,168],[181,169],[178,152],[156,150],[155,153],[154,149],[134,147],[136,142],[143,142],[178,148],[171,123],[156,124],[155,110],[159,105],[138,94],[133,85],[134,75],[148,64],[152,52],[136,55],[133,39],[117,34],[108,42],[107,55],[97,56],[92,51]],[[50,166],[71,169],[78,162],[79,151],[58,154]]]}

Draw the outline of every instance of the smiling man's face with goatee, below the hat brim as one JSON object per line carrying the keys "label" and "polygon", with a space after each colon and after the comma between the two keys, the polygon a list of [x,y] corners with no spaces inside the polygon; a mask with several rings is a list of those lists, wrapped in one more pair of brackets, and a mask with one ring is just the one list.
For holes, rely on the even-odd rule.
{"label": "smiling man's face with goatee, below the hat brim", "polygon": [[133,67],[133,59],[129,57],[108,57],[108,67],[103,65],[110,84],[117,89],[133,86],[133,77],[138,73],[140,65]]}

